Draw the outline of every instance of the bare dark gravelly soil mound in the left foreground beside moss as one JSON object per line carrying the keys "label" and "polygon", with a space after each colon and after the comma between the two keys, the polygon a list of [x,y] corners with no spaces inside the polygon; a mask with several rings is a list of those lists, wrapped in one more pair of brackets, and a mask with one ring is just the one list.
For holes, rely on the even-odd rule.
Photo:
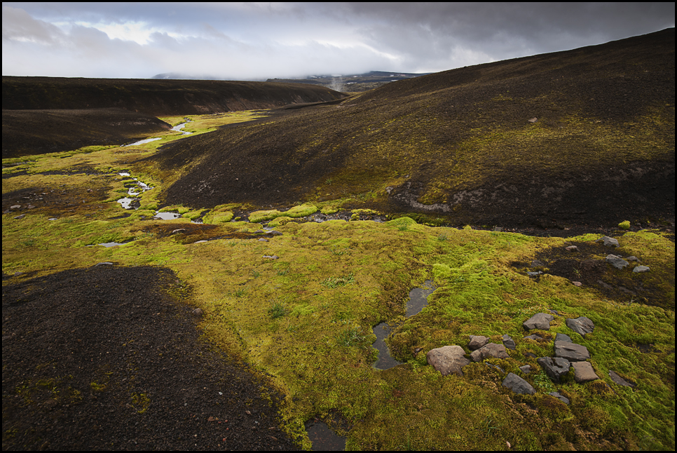
{"label": "bare dark gravelly soil mound in the left foreground beside moss", "polygon": [[296,447],[278,427],[280,395],[200,338],[171,271],[6,278],[3,449]]}

